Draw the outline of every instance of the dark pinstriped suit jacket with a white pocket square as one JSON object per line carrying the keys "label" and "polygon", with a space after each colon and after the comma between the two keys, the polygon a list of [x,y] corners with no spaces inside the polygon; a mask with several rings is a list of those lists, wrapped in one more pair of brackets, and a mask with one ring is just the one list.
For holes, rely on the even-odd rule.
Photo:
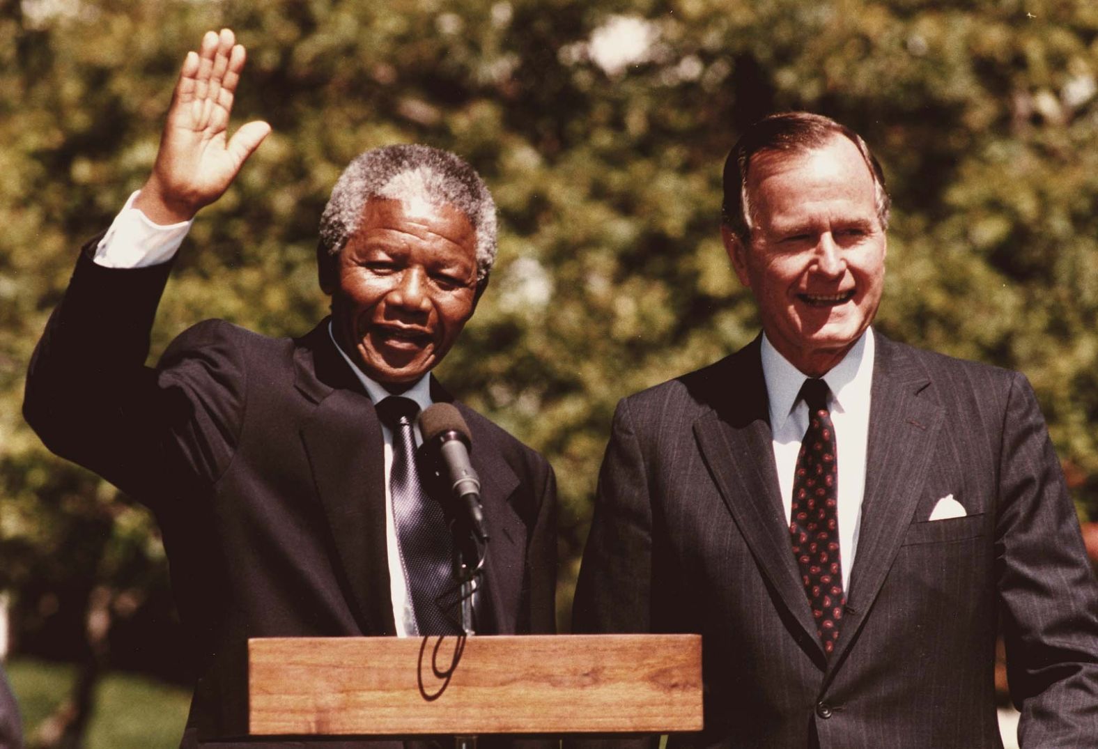
{"label": "dark pinstriped suit jacket with a white pocket square", "polygon": [[[575,629],[703,635],[705,730],[672,746],[976,749],[1000,746],[1001,615],[1023,746],[1098,746],[1098,594],[1026,379],[877,335],[872,388],[830,660],[789,545],[758,339],[618,405]],[[949,494],[967,515],[928,522]]]}

